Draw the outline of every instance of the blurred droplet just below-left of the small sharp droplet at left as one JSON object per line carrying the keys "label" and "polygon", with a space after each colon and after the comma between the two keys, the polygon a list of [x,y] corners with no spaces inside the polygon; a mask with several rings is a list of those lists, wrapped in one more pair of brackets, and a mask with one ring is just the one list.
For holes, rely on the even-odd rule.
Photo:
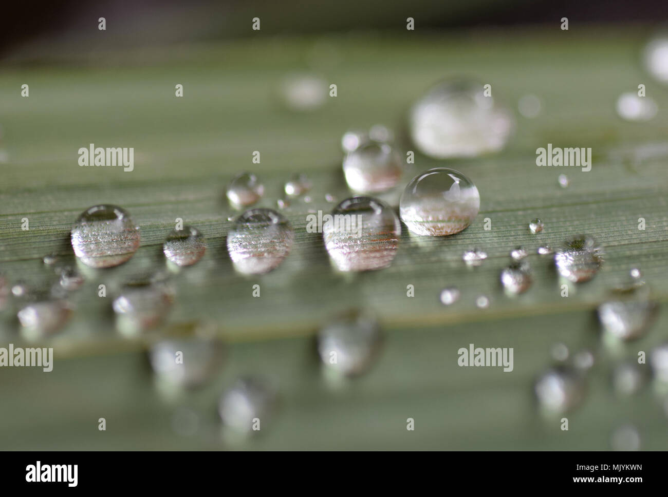
{"label": "blurred droplet just below-left of the small sharp droplet at left", "polygon": [[133,336],[155,328],[174,302],[174,289],[162,275],[140,277],[126,283],[112,308],[120,332]]}

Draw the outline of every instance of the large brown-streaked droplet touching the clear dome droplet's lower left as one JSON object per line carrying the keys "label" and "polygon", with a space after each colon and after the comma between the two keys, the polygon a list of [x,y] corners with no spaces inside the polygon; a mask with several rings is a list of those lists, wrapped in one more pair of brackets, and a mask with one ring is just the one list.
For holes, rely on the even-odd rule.
{"label": "large brown-streaked droplet touching the clear dome droplet's lower left", "polygon": [[323,219],[323,240],[340,271],[385,268],[397,253],[401,223],[394,211],[371,197],[351,197]]}

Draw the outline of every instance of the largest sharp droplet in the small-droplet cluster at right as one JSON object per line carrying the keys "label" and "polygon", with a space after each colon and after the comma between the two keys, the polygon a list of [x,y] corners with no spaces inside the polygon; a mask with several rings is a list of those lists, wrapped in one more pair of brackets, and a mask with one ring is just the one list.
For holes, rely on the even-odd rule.
{"label": "largest sharp droplet in the small-droplet cluster at right", "polygon": [[554,264],[561,276],[573,283],[588,282],[601,268],[603,257],[595,240],[587,235],[567,239],[554,254]]}

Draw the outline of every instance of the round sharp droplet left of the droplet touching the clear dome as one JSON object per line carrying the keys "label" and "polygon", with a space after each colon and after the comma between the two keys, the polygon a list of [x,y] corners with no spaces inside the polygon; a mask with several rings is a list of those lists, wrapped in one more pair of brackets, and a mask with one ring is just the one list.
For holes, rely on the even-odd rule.
{"label": "round sharp droplet left of the droplet touching the clear dome", "polygon": [[278,268],[290,253],[294,232],[272,209],[251,209],[236,219],[227,235],[227,251],[238,272],[262,274]]}

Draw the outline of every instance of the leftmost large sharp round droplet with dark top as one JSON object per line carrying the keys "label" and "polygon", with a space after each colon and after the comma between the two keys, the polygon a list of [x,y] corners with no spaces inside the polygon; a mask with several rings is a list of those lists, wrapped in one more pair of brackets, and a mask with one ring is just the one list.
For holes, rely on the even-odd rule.
{"label": "leftmost large sharp round droplet with dark top", "polygon": [[74,254],[86,266],[111,268],[129,260],[139,247],[139,227],[117,205],[94,205],[71,230]]}

